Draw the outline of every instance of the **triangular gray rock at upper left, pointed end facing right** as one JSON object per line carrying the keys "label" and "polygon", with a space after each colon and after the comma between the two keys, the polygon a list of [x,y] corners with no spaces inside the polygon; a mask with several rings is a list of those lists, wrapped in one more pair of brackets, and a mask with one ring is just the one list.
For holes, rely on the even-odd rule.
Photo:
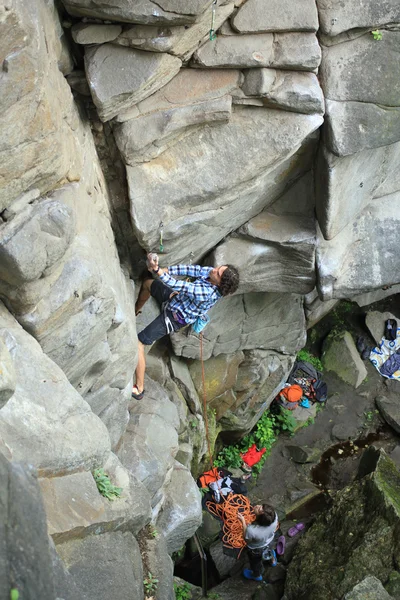
{"label": "triangular gray rock at upper left, pointed end facing right", "polygon": [[[124,69],[119,67],[124,64]],[[85,69],[100,118],[109,121],[147,98],[176,75],[179,58],[113,44],[85,49]]]}

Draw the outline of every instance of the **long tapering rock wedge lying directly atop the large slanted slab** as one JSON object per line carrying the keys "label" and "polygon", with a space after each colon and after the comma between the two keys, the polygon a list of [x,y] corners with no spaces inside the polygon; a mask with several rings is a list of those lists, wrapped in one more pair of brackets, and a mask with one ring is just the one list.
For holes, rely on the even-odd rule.
{"label": "long tapering rock wedge lying directly atop the large slanted slab", "polygon": [[189,135],[193,127],[228,121],[231,107],[231,97],[225,96],[139,116],[114,127],[115,141],[126,164],[149,161]]}

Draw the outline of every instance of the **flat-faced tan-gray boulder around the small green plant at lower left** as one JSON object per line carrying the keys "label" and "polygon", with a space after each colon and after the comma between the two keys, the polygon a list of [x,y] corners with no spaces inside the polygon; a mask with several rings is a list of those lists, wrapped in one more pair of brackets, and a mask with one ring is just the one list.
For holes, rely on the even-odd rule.
{"label": "flat-faced tan-gray boulder around the small green plant at lower left", "polygon": [[150,497],[143,484],[114,455],[104,470],[111,482],[122,488],[121,496],[112,501],[99,493],[88,472],[39,480],[49,534],[56,544],[105,531],[136,534],[149,522]]}

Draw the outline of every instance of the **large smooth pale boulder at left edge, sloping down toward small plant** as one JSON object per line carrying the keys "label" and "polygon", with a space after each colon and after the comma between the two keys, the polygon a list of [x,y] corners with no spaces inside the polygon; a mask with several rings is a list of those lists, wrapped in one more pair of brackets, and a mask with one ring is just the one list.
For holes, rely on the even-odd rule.
{"label": "large smooth pale boulder at left edge, sloping down toward small plant", "polygon": [[0,337],[15,370],[15,392],[0,410],[0,439],[14,460],[42,474],[92,469],[110,451],[107,429],[39,344],[0,306]]}

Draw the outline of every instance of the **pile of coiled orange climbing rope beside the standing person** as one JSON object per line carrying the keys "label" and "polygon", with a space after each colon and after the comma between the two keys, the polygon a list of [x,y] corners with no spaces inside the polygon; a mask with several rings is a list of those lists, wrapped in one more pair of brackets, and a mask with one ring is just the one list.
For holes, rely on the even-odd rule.
{"label": "pile of coiled orange climbing rope beside the standing person", "polygon": [[238,519],[238,513],[240,512],[243,515],[246,525],[255,520],[256,515],[250,505],[250,500],[241,494],[229,494],[221,504],[209,501],[206,503],[206,506],[212,515],[223,522],[222,543],[224,546],[240,548],[240,556],[243,548],[246,546],[246,542],[243,536],[242,524]]}

